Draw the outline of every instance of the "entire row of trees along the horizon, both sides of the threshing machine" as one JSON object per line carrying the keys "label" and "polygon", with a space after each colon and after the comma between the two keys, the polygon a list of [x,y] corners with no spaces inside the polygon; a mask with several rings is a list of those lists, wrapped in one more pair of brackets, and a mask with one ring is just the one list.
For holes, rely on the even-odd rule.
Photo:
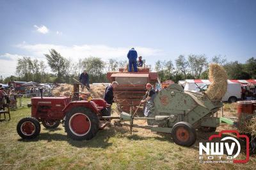
{"label": "entire row of trees along the horizon, both sides of the threshing machine", "polygon": [[[86,70],[92,82],[108,82],[106,72],[118,71],[118,68],[125,67],[127,61],[109,59],[102,61],[99,57],[88,57],[73,62],[61,56],[56,50],[49,50],[49,54],[44,54],[47,63],[29,57],[19,58],[16,66],[16,75],[11,75],[0,82],[9,81],[34,81],[34,82],[66,82],[74,83],[79,74]],[[159,74],[159,80],[172,80],[178,82],[184,79],[208,79],[209,63],[222,65],[228,74],[228,79],[256,79],[256,58],[250,58],[245,63],[238,61],[227,62],[225,56],[214,56],[210,61],[204,54],[188,56],[180,55],[175,61],[158,60],[155,63],[155,70]],[[51,68],[51,73],[46,72],[47,66]]]}

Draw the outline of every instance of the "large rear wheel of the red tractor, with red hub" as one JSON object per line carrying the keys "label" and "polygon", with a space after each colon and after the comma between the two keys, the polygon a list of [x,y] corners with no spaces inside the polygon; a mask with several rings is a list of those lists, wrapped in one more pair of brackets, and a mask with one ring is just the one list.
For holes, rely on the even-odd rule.
{"label": "large rear wheel of the red tractor, with red hub", "polygon": [[76,107],[66,114],[65,131],[75,140],[90,140],[99,130],[97,115],[86,107]]}

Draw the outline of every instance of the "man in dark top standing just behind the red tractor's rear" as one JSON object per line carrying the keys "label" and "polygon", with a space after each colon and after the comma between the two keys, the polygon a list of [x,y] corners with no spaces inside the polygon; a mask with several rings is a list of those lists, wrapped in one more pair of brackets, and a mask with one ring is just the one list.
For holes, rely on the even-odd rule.
{"label": "man in dark top standing just behind the red tractor's rear", "polygon": [[[118,82],[113,81],[111,84],[109,84],[108,87],[106,87],[105,89],[105,96],[104,96],[104,100],[112,105],[113,104],[113,100],[114,100],[114,93],[113,93],[113,89],[116,88],[116,86],[118,85]],[[111,106],[107,107],[108,110],[108,116],[111,115]]]}

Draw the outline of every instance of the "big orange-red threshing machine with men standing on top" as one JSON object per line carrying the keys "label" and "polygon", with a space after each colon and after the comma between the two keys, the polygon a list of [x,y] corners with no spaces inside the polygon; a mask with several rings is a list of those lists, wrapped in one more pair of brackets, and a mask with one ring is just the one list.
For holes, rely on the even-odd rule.
{"label": "big orange-red threshing machine with men standing on top", "polygon": [[150,72],[147,66],[140,67],[138,72],[125,72],[124,68],[120,68],[119,72],[108,72],[107,78],[109,82],[117,81],[119,84],[114,89],[118,109],[133,112],[147,91],[146,84],[156,84],[157,72]]}

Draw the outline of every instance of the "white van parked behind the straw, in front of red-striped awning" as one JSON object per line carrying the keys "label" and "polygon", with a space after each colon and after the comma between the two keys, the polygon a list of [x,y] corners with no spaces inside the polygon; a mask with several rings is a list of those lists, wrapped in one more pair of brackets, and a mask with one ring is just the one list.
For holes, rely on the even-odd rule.
{"label": "white van parked behind the straw, in front of red-striped awning", "polygon": [[[194,80],[186,80],[185,81],[185,88],[184,91],[200,91],[203,89],[206,91],[208,86],[211,84],[209,80],[202,80],[202,82],[195,82]],[[228,81],[227,92],[225,93],[224,97],[222,98],[223,102],[236,102],[241,98],[241,84],[234,83]]]}

